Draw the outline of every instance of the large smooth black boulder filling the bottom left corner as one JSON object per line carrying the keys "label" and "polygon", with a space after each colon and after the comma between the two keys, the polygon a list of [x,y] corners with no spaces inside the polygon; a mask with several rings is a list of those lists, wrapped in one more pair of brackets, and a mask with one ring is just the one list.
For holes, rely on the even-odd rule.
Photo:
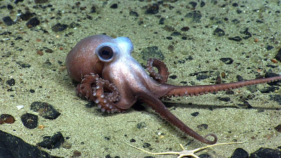
{"label": "large smooth black boulder filling the bottom left corner", "polygon": [[52,158],[50,154],[39,150],[38,147],[24,142],[22,139],[0,130],[0,157],[23,158],[44,157]]}

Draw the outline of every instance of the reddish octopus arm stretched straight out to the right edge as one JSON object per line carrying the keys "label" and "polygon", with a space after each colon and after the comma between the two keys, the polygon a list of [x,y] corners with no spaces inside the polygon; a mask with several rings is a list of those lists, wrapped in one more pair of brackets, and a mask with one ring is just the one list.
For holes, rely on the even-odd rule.
{"label": "reddish octopus arm stretched straight out to the right edge", "polygon": [[[197,86],[173,86],[169,85],[169,90],[163,97],[181,97],[181,96],[198,96],[208,94],[209,92],[227,91],[231,89],[241,88],[247,85],[255,85],[260,83],[273,82],[281,80],[281,76],[269,78],[259,78],[254,80],[246,80],[232,83],[222,83],[217,85],[197,85]],[[171,87],[172,86],[172,87]]]}

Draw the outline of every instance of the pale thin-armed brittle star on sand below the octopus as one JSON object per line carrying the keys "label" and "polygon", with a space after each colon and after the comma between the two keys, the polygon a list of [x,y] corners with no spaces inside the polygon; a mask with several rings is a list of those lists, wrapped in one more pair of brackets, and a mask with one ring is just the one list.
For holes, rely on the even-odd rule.
{"label": "pale thin-armed brittle star on sand below the octopus", "polygon": [[[246,140],[245,140],[246,141]],[[143,149],[140,149],[138,147],[135,147],[127,142],[125,142],[126,144],[130,145],[131,147],[134,147],[138,150],[141,150],[143,152],[146,152],[148,154],[154,154],[154,155],[165,155],[165,154],[176,154],[176,155],[179,155],[177,158],[180,158],[180,157],[185,157],[185,156],[192,156],[192,157],[195,157],[195,158],[199,158],[197,155],[195,155],[194,153],[196,152],[199,152],[203,149],[207,149],[209,147],[213,147],[213,146],[216,146],[216,145],[226,145],[226,144],[241,144],[241,143],[244,143],[245,141],[243,142],[229,142],[229,143],[217,143],[217,144],[213,144],[213,145],[208,145],[208,146],[205,146],[205,147],[200,147],[200,148],[197,148],[197,149],[193,149],[193,150],[185,150],[184,146],[181,145],[179,143],[179,145],[181,146],[181,149],[182,151],[179,151],[179,152],[149,152],[149,151],[146,151],[146,150],[143,150]]]}

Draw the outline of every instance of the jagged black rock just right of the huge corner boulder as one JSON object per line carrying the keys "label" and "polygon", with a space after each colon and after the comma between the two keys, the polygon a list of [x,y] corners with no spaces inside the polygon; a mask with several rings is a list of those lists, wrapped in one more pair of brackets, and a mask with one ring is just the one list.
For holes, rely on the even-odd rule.
{"label": "jagged black rock just right of the huge corner boulder", "polygon": [[55,149],[59,148],[63,143],[64,136],[60,132],[57,132],[57,134],[53,135],[51,138],[44,137],[44,140],[36,145],[47,149]]}

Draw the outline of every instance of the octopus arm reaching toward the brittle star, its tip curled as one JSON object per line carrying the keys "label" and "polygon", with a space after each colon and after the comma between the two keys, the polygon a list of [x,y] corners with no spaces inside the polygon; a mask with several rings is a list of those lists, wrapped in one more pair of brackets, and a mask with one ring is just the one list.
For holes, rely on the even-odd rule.
{"label": "octopus arm reaching toward the brittle star, its tip curled", "polygon": [[[155,110],[155,112],[157,112],[163,119],[170,122],[191,137],[206,144],[215,144],[217,142],[217,136],[215,134],[210,133],[205,135],[205,137],[202,137],[194,130],[187,127],[181,120],[174,116],[174,114],[172,114],[155,95],[151,94],[150,92],[141,92],[137,97],[139,97],[140,100],[145,102],[148,106],[152,107],[152,109]],[[212,136],[214,140],[206,139],[208,136]]]}

